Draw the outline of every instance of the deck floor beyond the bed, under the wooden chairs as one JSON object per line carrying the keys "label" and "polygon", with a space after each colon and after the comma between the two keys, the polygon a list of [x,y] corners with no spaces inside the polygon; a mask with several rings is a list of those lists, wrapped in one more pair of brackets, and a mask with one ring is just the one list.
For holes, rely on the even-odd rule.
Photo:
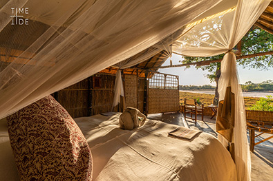
{"label": "deck floor beyond the bed, under the wooden chairs", "polygon": [[[215,137],[218,136],[216,133],[215,121],[216,118],[211,116],[204,116],[204,121],[201,120],[201,116],[198,116],[197,124],[185,121],[183,114],[149,114],[149,119],[161,120],[164,123],[173,125],[180,125],[189,127],[191,129],[199,129],[209,133]],[[256,133],[258,134],[258,133]],[[255,142],[263,140],[271,136],[270,134],[263,134],[255,138]],[[247,131],[247,138],[250,140],[249,133]],[[271,181],[273,178],[273,139],[262,142],[255,146],[254,153],[251,153],[252,158],[252,181]]]}

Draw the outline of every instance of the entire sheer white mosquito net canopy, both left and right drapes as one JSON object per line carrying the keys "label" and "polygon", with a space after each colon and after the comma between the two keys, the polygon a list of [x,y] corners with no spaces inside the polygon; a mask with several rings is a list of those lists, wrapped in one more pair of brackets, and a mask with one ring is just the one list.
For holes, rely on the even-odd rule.
{"label": "entire sheer white mosquito net canopy, both left and right drapes", "polygon": [[[0,118],[106,67],[131,67],[161,50],[187,56],[225,53],[220,100],[226,88],[231,87],[236,105],[232,142],[238,180],[250,180],[245,109],[232,48],[269,3],[270,0],[2,0]],[[141,56],[132,58],[138,53]],[[219,137],[223,144],[227,142]]]}

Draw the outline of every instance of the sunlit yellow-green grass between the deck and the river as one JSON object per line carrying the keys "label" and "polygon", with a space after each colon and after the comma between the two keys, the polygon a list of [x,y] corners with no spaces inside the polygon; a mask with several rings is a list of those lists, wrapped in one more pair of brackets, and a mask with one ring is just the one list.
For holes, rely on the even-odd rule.
{"label": "sunlit yellow-green grass between the deck and the river", "polygon": [[[179,92],[180,94],[180,105],[184,104],[184,99],[193,99],[193,98],[199,98],[200,102],[204,104],[204,106],[211,105],[214,100],[214,95],[211,94],[199,94],[199,93],[191,93],[191,92]],[[254,97],[244,97],[245,100],[245,109],[248,107],[251,107],[256,103],[259,98]]]}

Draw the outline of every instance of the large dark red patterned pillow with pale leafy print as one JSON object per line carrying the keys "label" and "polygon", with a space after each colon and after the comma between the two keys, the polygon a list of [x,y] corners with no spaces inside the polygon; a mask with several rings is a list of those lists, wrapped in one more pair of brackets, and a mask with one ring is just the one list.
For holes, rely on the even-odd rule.
{"label": "large dark red patterned pillow with pale leafy print", "polygon": [[92,180],[92,156],[73,118],[52,96],[8,116],[21,180]]}

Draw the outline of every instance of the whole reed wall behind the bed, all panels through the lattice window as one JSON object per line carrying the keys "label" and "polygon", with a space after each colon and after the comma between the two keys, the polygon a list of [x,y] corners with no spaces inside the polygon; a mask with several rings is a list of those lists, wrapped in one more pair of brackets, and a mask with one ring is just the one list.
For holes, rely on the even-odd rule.
{"label": "whole reed wall behind the bed, all panels through the lattice window", "polygon": [[[124,74],[126,106],[144,111],[145,78]],[[115,74],[95,74],[55,93],[55,98],[73,117],[112,111]],[[149,114],[178,111],[178,90],[149,89]]]}

